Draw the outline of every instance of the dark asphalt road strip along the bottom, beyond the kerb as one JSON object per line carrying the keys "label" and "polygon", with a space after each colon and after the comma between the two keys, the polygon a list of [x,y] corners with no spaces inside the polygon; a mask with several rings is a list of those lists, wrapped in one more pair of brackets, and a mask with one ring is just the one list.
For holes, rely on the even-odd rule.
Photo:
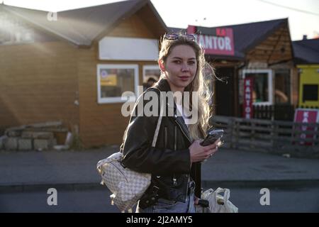
{"label": "dark asphalt road strip along the bottom, beyond the kerb", "polygon": [[[262,206],[261,187],[232,187],[230,201],[239,212],[319,212],[319,187],[269,188],[269,205]],[[118,212],[111,206],[107,189],[57,190],[57,205],[49,206],[47,191],[15,192],[0,194],[0,212]],[[52,197],[50,197],[50,201]],[[263,201],[266,201],[263,199]]]}

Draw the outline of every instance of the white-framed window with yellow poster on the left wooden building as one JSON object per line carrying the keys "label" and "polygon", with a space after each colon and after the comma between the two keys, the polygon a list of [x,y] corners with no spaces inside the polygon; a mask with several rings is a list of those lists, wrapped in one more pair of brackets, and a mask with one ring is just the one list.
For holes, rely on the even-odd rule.
{"label": "white-framed window with yellow poster on the left wooden building", "polygon": [[138,95],[138,65],[97,65],[98,103],[125,102],[123,92]]}

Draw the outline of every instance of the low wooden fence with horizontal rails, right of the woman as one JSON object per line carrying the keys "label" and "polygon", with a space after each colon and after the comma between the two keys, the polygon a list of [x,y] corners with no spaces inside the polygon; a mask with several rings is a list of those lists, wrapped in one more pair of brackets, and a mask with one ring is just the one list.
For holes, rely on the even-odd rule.
{"label": "low wooden fence with horizontal rails, right of the woman", "polygon": [[214,116],[211,125],[224,129],[226,148],[319,157],[319,123]]}

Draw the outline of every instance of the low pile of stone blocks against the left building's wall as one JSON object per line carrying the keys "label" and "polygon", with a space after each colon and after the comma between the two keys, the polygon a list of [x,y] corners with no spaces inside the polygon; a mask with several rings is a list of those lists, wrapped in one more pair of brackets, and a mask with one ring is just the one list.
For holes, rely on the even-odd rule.
{"label": "low pile of stone blocks against the left building's wall", "polygon": [[57,145],[55,135],[59,133],[67,135],[67,128],[60,121],[7,128],[0,138],[0,149],[52,150]]}

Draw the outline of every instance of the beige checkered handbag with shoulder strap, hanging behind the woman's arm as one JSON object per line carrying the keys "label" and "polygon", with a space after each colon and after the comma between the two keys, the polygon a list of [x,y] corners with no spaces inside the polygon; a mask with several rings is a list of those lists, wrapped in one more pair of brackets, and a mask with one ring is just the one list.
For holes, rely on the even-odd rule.
{"label": "beige checkered handbag with shoulder strap, hanging behind the woman's arm", "polygon": [[[156,145],[161,121],[162,108],[157,121],[152,147],[155,147]],[[121,165],[122,160],[123,153],[114,153],[106,159],[100,160],[96,165],[96,169],[102,177],[101,184],[105,184],[113,193],[110,196],[112,205],[116,204],[118,209],[122,212],[131,212],[132,207],[138,202],[142,194],[144,194],[146,189],[150,186],[151,175],[135,172],[123,167],[123,165]]]}

